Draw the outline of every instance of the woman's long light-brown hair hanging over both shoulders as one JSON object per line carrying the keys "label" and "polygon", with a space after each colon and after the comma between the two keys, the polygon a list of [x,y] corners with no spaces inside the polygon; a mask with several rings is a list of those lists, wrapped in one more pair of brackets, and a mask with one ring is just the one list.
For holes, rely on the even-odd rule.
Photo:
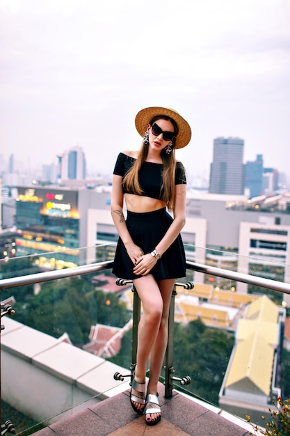
{"label": "woman's long light-brown hair hanging over both shoulders", "polygon": [[[155,116],[150,120],[150,125],[152,126],[157,120],[168,120],[172,123],[175,131],[175,137],[178,134],[178,127],[175,120],[172,120],[169,116]],[[127,172],[126,176],[124,176],[123,185],[130,192],[134,192],[134,194],[142,195],[143,191],[140,187],[138,180],[138,173],[140,171],[141,166],[145,162],[145,159],[148,155],[149,143],[142,143],[142,146],[138,152],[138,156],[134,165],[131,166],[131,169]],[[163,162],[163,171],[162,171],[162,185],[161,185],[161,201],[166,203],[168,210],[173,210],[175,204],[175,167],[176,167],[176,158],[175,158],[175,138],[172,139],[172,152],[167,154],[163,149],[161,151],[161,159]]]}

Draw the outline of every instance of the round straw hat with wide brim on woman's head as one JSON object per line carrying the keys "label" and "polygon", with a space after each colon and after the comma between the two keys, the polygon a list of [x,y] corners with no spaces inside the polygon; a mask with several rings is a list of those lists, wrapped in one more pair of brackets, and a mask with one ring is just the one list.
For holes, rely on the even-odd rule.
{"label": "round straw hat with wide brim on woman's head", "polygon": [[183,148],[187,146],[188,142],[191,140],[191,127],[177,111],[168,107],[146,107],[139,111],[135,118],[135,125],[138,134],[140,134],[141,137],[144,137],[150,120],[155,116],[162,115],[169,116],[172,120],[175,120],[175,123],[177,123],[178,134],[175,138],[175,148]]}

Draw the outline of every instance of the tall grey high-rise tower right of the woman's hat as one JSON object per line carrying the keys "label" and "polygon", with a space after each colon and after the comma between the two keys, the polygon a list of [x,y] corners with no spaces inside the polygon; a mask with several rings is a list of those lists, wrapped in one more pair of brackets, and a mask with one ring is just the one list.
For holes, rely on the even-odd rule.
{"label": "tall grey high-rise tower right of the woman's hat", "polygon": [[232,137],[214,139],[209,192],[243,195],[244,180],[243,139]]}

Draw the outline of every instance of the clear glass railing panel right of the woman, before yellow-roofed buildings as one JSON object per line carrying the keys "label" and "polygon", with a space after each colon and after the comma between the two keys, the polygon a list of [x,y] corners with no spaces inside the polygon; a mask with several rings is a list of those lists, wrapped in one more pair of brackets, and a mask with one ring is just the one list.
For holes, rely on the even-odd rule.
{"label": "clear glass railing panel right of the woman, before yellow-roofed buildings", "polygon": [[[286,261],[198,251],[195,263],[290,283]],[[175,372],[191,377],[193,395],[263,425],[272,402],[290,397],[290,295],[198,271],[188,278],[193,290],[179,288],[175,297]]]}

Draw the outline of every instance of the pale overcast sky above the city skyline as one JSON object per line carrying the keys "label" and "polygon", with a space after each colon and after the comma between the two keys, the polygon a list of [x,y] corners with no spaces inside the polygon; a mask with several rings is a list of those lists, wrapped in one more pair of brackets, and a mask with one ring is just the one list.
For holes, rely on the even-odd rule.
{"label": "pale overcast sky above the city skyline", "polygon": [[0,0],[0,70],[0,155],[24,167],[80,146],[111,173],[156,105],[190,123],[193,177],[216,137],[290,174],[289,0]]}

